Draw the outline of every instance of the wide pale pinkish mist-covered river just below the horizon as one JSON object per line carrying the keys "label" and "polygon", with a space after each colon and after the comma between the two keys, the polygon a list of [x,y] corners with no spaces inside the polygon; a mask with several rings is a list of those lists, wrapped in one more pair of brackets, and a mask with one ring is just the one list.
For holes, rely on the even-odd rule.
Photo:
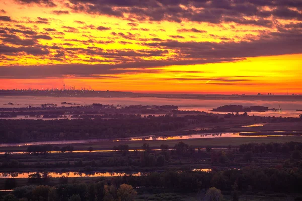
{"label": "wide pale pinkish mist-covered river just below the horizon", "polygon": [[[5,105],[7,103],[13,103],[14,105]],[[96,97],[42,97],[42,96],[2,96],[0,98],[1,107],[27,107],[31,106],[41,106],[45,103],[57,104],[58,107],[62,106],[62,102],[75,103],[77,105],[88,105],[92,103],[101,104],[113,104],[129,106],[129,105],[177,105],[179,110],[198,110],[209,112],[213,108],[217,108],[222,105],[243,105],[243,106],[253,106],[261,105],[269,108],[279,108],[283,109],[281,112],[249,112],[249,115],[257,116],[282,116],[282,117],[299,117],[302,114],[301,111],[296,111],[296,109],[302,109],[301,101],[258,101],[258,100],[196,100],[196,99],[177,99],[177,98],[154,98],[154,97],[139,97],[139,98],[96,98]],[[64,105],[66,106],[66,105]],[[223,113],[223,112],[213,112],[213,113]],[[23,118],[23,117],[20,117]]]}

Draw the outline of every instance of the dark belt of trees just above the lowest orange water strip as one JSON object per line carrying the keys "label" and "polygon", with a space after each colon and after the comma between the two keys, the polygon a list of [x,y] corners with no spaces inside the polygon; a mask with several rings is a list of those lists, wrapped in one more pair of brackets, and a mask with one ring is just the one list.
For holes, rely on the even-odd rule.
{"label": "dark belt of trees just above the lowest orange water strip", "polygon": [[[262,147],[262,148],[260,148]],[[179,168],[182,167],[182,163],[179,161],[182,159],[202,159],[205,158],[212,165],[234,166],[238,163],[246,164],[252,161],[258,161],[258,157],[271,156],[272,153],[277,155],[287,156],[288,158],[283,161],[287,167],[295,165],[297,160],[302,159],[302,143],[300,142],[288,142],[288,143],[269,143],[269,144],[242,144],[232,149],[232,145],[228,146],[227,150],[212,150],[210,146],[205,151],[201,149],[195,149],[193,146],[189,146],[183,142],[177,143],[173,147],[162,144],[160,151],[153,151],[149,144],[144,143],[141,146],[141,151],[134,150],[129,153],[129,145],[121,144],[114,146],[113,150],[120,152],[121,155],[114,155],[112,157],[99,158],[96,161],[95,158],[90,156],[89,158],[78,158],[77,160],[57,161],[57,162],[36,162],[36,163],[19,163],[18,160],[13,160],[7,153],[5,160],[1,163],[1,168],[81,168],[81,171],[97,171],[99,167],[124,167],[127,170],[138,170],[141,168],[157,168],[168,167],[169,164],[179,163]],[[92,152],[93,147],[88,147],[87,151]],[[47,152],[72,152],[72,146],[52,147],[51,145],[42,146],[30,146],[27,149],[29,154],[46,154]],[[269,154],[269,155],[267,155]],[[90,159],[90,160],[89,160]],[[283,163],[282,162],[282,163]],[[280,162],[281,163],[281,162]],[[120,169],[120,168],[119,168]]]}

